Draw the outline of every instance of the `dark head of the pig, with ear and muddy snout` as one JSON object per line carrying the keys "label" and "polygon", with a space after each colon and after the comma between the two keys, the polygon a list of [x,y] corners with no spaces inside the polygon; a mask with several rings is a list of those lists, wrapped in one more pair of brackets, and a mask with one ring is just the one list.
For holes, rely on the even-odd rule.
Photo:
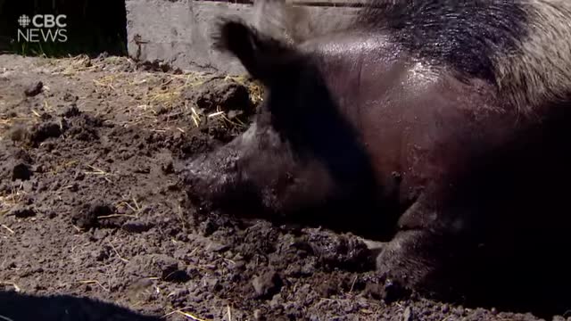
{"label": "dark head of the pig, with ear and muddy snout", "polygon": [[[191,197],[244,214],[327,212],[368,207],[375,190],[359,134],[327,89],[317,54],[221,21],[215,45],[265,86],[251,127],[218,151],[191,161]],[[352,209],[351,212],[345,210]]]}

